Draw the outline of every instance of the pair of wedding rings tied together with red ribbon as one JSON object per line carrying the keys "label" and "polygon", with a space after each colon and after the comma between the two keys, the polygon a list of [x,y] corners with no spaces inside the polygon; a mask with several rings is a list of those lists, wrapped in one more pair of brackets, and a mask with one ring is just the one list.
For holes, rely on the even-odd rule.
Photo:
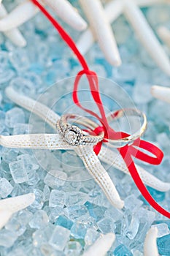
{"label": "pair of wedding rings tied together with red ribbon", "polygon": [[[128,135],[125,138],[121,138],[119,140],[108,139],[108,142],[113,147],[123,147],[130,143],[133,143],[134,140],[136,140],[137,138],[140,138],[147,127],[147,118],[141,111],[131,108],[117,110],[115,112],[109,113],[109,115],[107,116],[108,122],[123,117],[128,118],[133,116],[141,119],[141,127],[136,132],[134,132],[133,135]],[[57,131],[58,134],[61,135],[61,138],[69,145],[95,145],[104,139],[104,132],[99,132],[99,134],[95,136],[89,135],[88,132],[83,131],[82,129],[80,129],[80,127],[77,127],[76,125],[70,124],[69,121],[72,121],[72,123],[74,124],[80,124],[90,130],[96,129],[96,127],[98,127],[98,124],[95,121],[92,121],[90,118],[84,116],[74,114],[66,114],[61,116],[56,124]]]}

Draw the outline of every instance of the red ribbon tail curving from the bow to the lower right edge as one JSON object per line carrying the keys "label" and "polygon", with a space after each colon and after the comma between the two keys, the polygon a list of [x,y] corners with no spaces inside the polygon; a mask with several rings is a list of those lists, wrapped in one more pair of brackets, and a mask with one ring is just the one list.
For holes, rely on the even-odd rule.
{"label": "red ribbon tail curving from the bow to the lower right edge", "polygon": [[136,170],[136,167],[134,165],[134,161],[131,157],[130,152],[128,151],[128,146],[125,146],[123,148],[118,149],[120,151],[121,156],[123,157],[125,164],[128,167],[129,172],[131,173],[132,178],[134,179],[134,182],[136,184],[136,187],[138,187],[139,191],[142,193],[145,200],[147,200],[148,203],[152,206],[152,208],[155,208],[156,211],[158,211],[160,214],[163,214],[165,217],[170,219],[170,213],[169,211],[166,211],[164,208],[162,208],[150,195],[150,192],[148,192],[147,188],[144,186],[142,179],[139,176],[139,173]]}

